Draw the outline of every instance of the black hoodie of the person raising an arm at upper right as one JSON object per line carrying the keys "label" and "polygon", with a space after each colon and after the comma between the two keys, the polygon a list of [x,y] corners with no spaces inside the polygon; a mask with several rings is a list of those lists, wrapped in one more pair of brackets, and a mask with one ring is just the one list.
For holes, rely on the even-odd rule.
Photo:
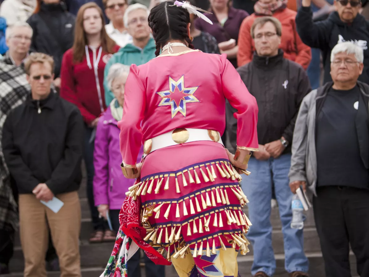
{"label": "black hoodie of the person raising an arm at upper right", "polygon": [[311,8],[301,7],[296,16],[296,27],[304,44],[322,51],[324,83],[332,81],[330,59],[333,47],[339,42],[352,41],[364,50],[364,70],[359,81],[369,84],[369,22],[361,14],[351,24],[342,22],[337,11],[328,19],[314,23]]}

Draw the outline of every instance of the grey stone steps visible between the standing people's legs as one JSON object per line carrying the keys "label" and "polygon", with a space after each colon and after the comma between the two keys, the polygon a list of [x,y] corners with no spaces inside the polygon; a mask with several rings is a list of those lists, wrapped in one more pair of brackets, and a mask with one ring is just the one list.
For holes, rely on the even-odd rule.
{"label": "grey stone steps visible between the standing people's legs", "polygon": [[[247,177],[246,177],[247,178]],[[80,235],[80,254],[81,254],[81,266],[83,277],[99,277],[103,272],[104,267],[110,257],[114,243],[100,243],[89,244],[88,239],[92,230],[90,213],[86,198],[86,185],[83,181],[80,191],[80,202],[82,208],[82,228]],[[251,199],[252,200],[252,199]],[[245,209],[247,213],[247,208]],[[313,211],[310,210],[306,213],[307,219],[304,224],[304,249],[306,255],[310,261],[310,276],[311,277],[324,277],[324,263],[320,251],[320,244],[315,230],[315,223],[313,218]],[[284,252],[283,252],[283,234],[281,231],[281,223],[279,219],[278,208],[272,209],[271,222],[273,226],[273,248],[275,251],[277,269],[275,277],[288,277],[288,274],[284,270]],[[251,265],[253,260],[253,250],[250,247],[250,253],[246,256],[239,255],[238,268],[242,277],[251,277]],[[352,276],[356,276],[356,263],[354,255],[350,255]],[[13,259],[10,263],[10,270],[12,274],[1,275],[1,277],[14,277],[23,276],[24,259],[23,253],[20,247],[20,240],[17,236],[15,251]],[[142,267],[142,277],[145,277],[144,267]],[[49,272],[48,277],[60,276],[59,272]],[[173,266],[166,268],[166,277],[176,277],[176,271]]]}

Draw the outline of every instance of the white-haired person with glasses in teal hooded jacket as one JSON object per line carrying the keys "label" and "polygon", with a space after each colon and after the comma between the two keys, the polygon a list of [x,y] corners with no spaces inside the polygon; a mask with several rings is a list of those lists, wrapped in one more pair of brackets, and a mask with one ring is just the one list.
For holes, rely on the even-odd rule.
{"label": "white-haired person with glasses in teal hooded jacket", "polygon": [[132,43],[128,43],[125,47],[120,48],[105,66],[104,89],[107,106],[114,99],[113,92],[111,92],[107,82],[110,66],[116,63],[128,66],[131,64],[141,65],[155,58],[156,45],[151,37],[148,16],[148,8],[139,3],[132,4],[125,10],[123,17],[124,26],[127,28],[128,34],[132,36]]}

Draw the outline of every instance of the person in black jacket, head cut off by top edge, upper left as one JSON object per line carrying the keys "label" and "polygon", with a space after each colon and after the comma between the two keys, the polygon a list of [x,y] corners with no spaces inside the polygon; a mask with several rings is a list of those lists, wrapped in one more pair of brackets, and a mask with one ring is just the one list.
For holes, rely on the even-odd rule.
{"label": "person in black jacket, head cut off by top edge, upper left", "polygon": [[27,23],[33,30],[31,49],[54,58],[54,85],[59,90],[63,54],[73,45],[75,16],[67,11],[61,0],[37,0],[34,14]]}

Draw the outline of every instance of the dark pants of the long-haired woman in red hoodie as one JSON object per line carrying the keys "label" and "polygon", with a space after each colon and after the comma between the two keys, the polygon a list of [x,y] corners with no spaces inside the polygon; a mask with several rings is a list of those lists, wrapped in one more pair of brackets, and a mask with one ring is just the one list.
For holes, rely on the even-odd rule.
{"label": "dark pants of the long-haired woman in red hoodie", "polygon": [[92,132],[93,128],[90,128],[85,124],[85,144],[83,149],[83,160],[85,160],[86,165],[87,199],[89,201],[93,229],[103,231],[106,229],[106,225],[104,224],[104,220],[102,218],[99,218],[99,211],[97,211],[93,197],[93,175],[95,173],[93,165],[93,150],[95,144],[94,140],[91,141]]}

